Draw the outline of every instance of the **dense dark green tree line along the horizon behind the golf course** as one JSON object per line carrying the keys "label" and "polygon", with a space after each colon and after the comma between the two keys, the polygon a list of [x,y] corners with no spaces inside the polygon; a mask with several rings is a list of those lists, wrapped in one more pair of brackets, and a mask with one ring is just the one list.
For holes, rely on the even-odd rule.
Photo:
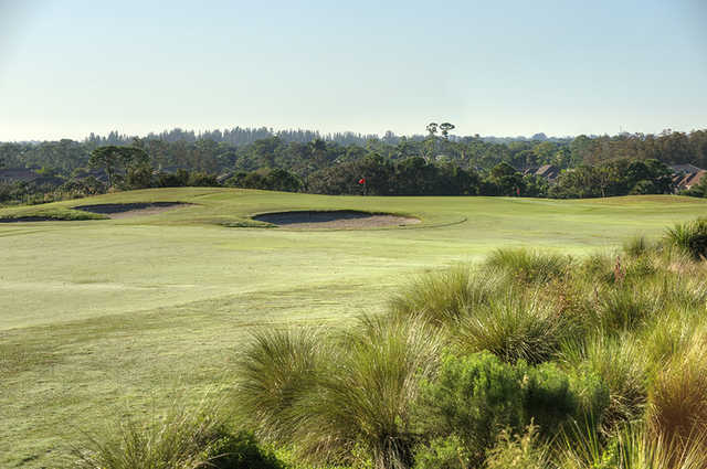
{"label": "dense dark green tree line along the horizon behind the golf course", "polygon": [[[452,129],[450,122],[432,122],[424,138],[390,135],[369,138],[363,145],[323,138],[288,141],[278,136],[232,145],[203,135],[175,141],[168,136],[134,138],[126,145],[117,132],[83,142],[0,143],[0,169],[33,168],[61,182],[53,189],[0,183],[0,201],[50,190],[60,190],[61,198],[65,193],[101,193],[109,185],[188,184],[323,194],[357,194],[366,189],[368,194],[379,195],[590,198],[668,193],[673,186],[666,164],[707,167],[706,130],[568,140],[541,136],[538,140],[494,142],[477,136],[454,138],[449,134]],[[109,141],[118,143],[106,145]],[[130,148],[135,150],[126,151],[141,157],[118,161],[112,168],[95,158],[104,148]],[[544,164],[562,170],[556,183],[532,175],[532,170]],[[365,188],[358,184],[361,178],[366,179]]]}

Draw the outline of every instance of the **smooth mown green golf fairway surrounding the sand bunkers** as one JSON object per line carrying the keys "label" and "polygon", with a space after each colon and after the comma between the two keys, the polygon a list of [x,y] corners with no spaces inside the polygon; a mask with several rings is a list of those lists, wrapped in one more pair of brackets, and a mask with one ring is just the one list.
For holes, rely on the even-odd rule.
{"label": "smooth mown green golf fairway surrounding the sand bunkers", "polygon": [[[0,217],[74,217],[76,205],[152,202],[189,205],[0,224],[0,467],[54,467],[81,430],[228,384],[250,328],[340,324],[379,310],[411,276],[496,247],[582,255],[707,214],[704,200],[673,195],[559,201],[188,188],[2,209]],[[287,230],[251,220],[323,210],[421,223]]]}

